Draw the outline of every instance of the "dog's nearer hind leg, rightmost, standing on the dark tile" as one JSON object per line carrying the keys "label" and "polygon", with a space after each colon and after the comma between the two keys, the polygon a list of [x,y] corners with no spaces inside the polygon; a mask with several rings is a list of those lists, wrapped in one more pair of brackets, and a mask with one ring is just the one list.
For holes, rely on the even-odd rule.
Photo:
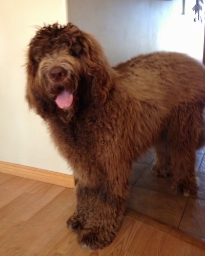
{"label": "dog's nearer hind leg, rightmost, standing on the dark tile", "polygon": [[195,153],[201,134],[201,116],[199,104],[180,106],[173,115],[168,133],[172,188],[186,196],[197,191]]}

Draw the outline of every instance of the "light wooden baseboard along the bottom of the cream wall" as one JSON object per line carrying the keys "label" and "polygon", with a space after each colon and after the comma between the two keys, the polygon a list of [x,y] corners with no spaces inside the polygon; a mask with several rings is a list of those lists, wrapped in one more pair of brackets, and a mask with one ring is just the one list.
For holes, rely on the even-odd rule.
{"label": "light wooden baseboard along the bottom of the cream wall", "polygon": [[28,179],[34,179],[65,188],[75,187],[75,180],[74,176],[72,175],[22,166],[15,163],[0,161],[0,172]]}

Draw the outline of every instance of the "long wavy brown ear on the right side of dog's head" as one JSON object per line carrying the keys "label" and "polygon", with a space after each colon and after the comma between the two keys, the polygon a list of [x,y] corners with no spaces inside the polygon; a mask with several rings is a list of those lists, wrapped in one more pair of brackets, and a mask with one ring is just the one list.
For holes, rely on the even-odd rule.
{"label": "long wavy brown ear on the right side of dog's head", "polygon": [[79,30],[69,23],[65,28],[65,40],[73,56],[84,65],[86,75],[92,77],[92,95],[97,102],[104,103],[111,88],[112,68],[103,49],[91,34]]}

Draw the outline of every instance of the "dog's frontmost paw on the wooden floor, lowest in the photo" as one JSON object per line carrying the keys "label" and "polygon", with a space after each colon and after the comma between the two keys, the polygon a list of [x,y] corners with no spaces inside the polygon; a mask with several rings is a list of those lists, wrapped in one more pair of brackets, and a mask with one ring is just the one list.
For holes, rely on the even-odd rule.
{"label": "dog's frontmost paw on the wooden floor, lowest in the photo", "polygon": [[[84,230],[85,231],[85,230]],[[78,236],[78,243],[81,248],[87,248],[90,250],[102,249],[114,240],[115,234],[108,235],[104,232],[82,232]]]}

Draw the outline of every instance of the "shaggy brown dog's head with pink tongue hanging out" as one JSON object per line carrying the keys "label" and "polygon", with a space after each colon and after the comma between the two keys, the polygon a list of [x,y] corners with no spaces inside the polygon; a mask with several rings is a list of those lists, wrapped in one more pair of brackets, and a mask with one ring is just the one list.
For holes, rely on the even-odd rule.
{"label": "shaggy brown dog's head with pink tongue hanging out", "polygon": [[80,108],[105,103],[111,67],[90,34],[69,23],[39,28],[27,53],[26,99],[44,119],[68,122]]}

